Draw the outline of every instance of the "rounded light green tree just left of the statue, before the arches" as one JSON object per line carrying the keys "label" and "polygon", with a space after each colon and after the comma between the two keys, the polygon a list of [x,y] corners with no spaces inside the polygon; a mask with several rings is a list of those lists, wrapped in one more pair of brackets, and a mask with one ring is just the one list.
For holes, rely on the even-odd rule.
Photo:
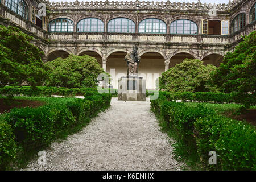
{"label": "rounded light green tree just left of the statue, before the arches", "polygon": [[[94,57],[69,55],[46,63],[50,68],[47,86],[96,88],[98,75],[105,73]],[[107,73],[106,73],[107,74]]]}

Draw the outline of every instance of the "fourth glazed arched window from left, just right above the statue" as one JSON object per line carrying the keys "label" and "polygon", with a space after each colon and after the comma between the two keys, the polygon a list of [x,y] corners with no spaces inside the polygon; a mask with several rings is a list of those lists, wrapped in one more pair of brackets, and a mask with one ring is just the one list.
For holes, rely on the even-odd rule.
{"label": "fourth glazed arched window from left, just right above the statue", "polygon": [[139,23],[139,33],[165,34],[166,23],[155,18],[144,19]]}

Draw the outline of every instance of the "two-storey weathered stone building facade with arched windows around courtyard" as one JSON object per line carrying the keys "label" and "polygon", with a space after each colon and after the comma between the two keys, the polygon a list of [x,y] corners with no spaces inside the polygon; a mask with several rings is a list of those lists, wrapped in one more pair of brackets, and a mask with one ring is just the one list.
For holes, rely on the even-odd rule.
{"label": "two-storey weathered stone building facade with arched windows around courtyard", "polygon": [[[138,46],[139,75],[147,89],[168,68],[185,58],[218,67],[242,36],[256,30],[255,0],[211,5],[198,2],[92,1],[53,3],[0,0],[0,24],[19,27],[51,61],[69,54],[96,57],[112,75],[125,76],[124,57]],[[42,13],[43,5],[46,13]]]}

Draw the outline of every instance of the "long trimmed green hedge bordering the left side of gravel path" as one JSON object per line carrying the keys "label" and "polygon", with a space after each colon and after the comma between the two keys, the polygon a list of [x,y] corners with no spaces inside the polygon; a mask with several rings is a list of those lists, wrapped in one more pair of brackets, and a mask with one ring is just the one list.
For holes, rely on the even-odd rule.
{"label": "long trimmed green hedge bordering the left side of gravel path", "polygon": [[90,93],[84,99],[52,98],[46,105],[7,113],[5,122],[0,124],[0,169],[10,167],[18,148],[29,152],[47,147],[110,106],[111,94]]}

